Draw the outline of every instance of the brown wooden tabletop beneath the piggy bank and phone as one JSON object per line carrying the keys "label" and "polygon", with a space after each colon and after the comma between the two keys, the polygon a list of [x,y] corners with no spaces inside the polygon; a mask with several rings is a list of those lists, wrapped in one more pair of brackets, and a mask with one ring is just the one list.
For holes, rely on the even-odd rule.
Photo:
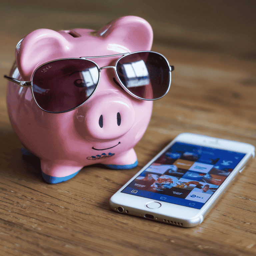
{"label": "brown wooden tabletop beneath the piggy bank and phone", "polygon": [[[174,1],[174,10],[170,9],[173,15],[179,9],[178,2]],[[249,1],[244,2],[249,6]],[[152,5],[153,1],[149,3]],[[218,26],[215,32],[209,30],[210,41],[200,41],[201,34],[196,34],[200,28],[202,38],[207,34],[209,28],[203,22],[200,25],[198,21],[198,27],[193,27],[195,33],[190,33],[189,21],[197,15],[198,6],[183,10],[188,20],[183,19],[182,23],[181,18],[179,22],[188,33],[180,37],[178,32],[170,36],[166,33],[168,28],[175,28],[174,23],[152,17],[149,21],[156,31],[152,50],[166,56],[175,71],[169,93],[154,102],[148,129],[135,146],[138,167],[132,170],[85,167],[73,179],[49,185],[41,178],[39,161],[27,162],[22,158],[21,144],[8,118],[7,81],[3,75],[12,66],[17,42],[36,28],[82,27],[82,17],[84,27],[100,28],[118,16],[139,15],[140,11],[123,13],[118,5],[113,8],[121,8],[120,14],[111,10],[106,14],[104,8],[98,13],[87,10],[85,14],[76,14],[75,7],[69,10],[67,6],[61,12],[30,4],[30,9],[27,5],[18,5],[20,9],[11,4],[1,5],[4,12],[0,23],[0,255],[256,255],[255,160],[238,176],[203,223],[194,228],[119,214],[111,211],[108,204],[109,198],[179,133],[205,134],[256,146],[256,62],[255,45],[250,44],[255,36],[242,32],[249,31],[246,22],[254,19],[250,16],[251,7],[248,17],[243,12],[236,28],[238,34],[234,32],[235,24],[225,27],[225,23],[226,32]],[[124,5],[129,7],[127,3]],[[229,8],[225,3],[222,8],[223,18]],[[65,15],[69,15],[70,22],[65,20]],[[210,17],[214,19],[214,15]],[[226,12],[226,15],[230,23],[241,18],[237,12]],[[149,17],[150,10],[139,16]],[[61,21],[65,27],[61,27]],[[237,41],[229,44],[230,37],[233,41],[240,37],[244,47],[239,48]],[[167,39],[173,43],[167,43]]]}

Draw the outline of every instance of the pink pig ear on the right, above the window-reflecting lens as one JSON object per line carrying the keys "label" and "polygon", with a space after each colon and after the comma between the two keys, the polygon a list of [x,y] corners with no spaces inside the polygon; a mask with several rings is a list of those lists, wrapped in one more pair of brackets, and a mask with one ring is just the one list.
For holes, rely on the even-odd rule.
{"label": "pink pig ear on the right, above the window-reflecting lens", "polygon": [[130,52],[150,50],[153,42],[150,24],[136,16],[118,18],[101,28],[97,35],[113,44],[125,45]]}

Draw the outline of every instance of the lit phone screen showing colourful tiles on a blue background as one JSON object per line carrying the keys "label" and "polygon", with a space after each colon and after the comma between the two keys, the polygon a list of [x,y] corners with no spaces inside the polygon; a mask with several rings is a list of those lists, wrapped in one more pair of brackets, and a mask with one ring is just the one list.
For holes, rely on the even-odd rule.
{"label": "lit phone screen showing colourful tiles on a blue background", "polygon": [[175,142],[121,192],[201,209],[244,156]]}

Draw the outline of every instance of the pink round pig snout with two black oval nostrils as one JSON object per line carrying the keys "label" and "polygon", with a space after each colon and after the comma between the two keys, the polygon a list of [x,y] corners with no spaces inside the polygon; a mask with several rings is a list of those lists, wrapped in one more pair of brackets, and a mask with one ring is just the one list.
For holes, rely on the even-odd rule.
{"label": "pink round pig snout with two black oval nostrils", "polygon": [[[102,95],[78,110],[87,136],[93,139],[113,140],[126,134],[134,124],[135,111],[128,99],[116,95]],[[82,121],[82,122],[81,122]]]}

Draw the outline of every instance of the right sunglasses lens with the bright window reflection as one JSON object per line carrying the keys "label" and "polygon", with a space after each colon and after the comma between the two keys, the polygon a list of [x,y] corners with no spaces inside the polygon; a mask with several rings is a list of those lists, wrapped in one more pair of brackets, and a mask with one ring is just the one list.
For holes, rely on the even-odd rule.
{"label": "right sunglasses lens with the bright window reflection", "polygon": [[121,58],[117,75],[128,91],[142,99],[158,99],[169,90],[170,68],[158,53],[138,52]]}

